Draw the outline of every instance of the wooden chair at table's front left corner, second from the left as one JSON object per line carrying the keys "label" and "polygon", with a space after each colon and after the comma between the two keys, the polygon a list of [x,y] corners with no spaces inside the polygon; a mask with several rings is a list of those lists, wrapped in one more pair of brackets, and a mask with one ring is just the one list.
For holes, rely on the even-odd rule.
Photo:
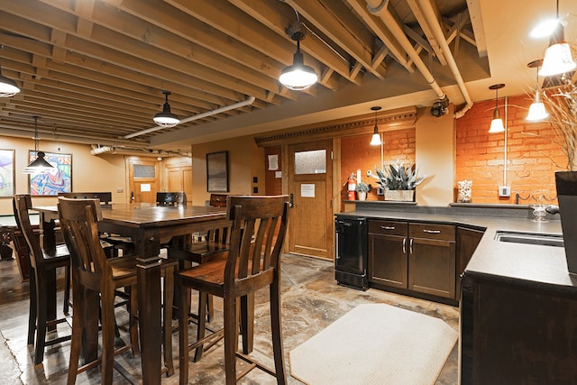
{"label": "wooden chair at table's front left corner, second from the left", "polygon": [[[76,381],[78,372],[87,371],[101,365],[101,383],[110,384],[113,378],[114,355],[133,349],[140,353],[137,328],[137,278],[136,256],[106,258],[100,244],[97,222],[102,212],[97,199],[74,199],[59,197],[60,226],[69,246],[72,260],[73,311],[72,343],[68,383]],[[164,277],[163,346],[167,372],[174,372],[172,364],[172,296],[174,290],[173,272],[176,262],[160,259]],[[131,345],[114,350],[114,293],[118,288],[130,288],[129,334]],[[97,352],[97,312],[98,299],[101,307],[102,353]],[[166,306],[170,304],[170,306]],[[85,363],[78,368],[80,350],[85,352]]]}

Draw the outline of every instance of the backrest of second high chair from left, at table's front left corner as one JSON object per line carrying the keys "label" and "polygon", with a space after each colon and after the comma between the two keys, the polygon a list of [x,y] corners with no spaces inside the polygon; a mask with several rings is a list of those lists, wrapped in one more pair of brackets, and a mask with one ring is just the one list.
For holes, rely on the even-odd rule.
{"label": "backrest of second high chair from left, at table's front left corner", "polygon": [[58,212],[71,256],[73,278],[92,289],[112,282],[112,269],[98,235],[98,221],[102,219],[98,199],[59,197]]}

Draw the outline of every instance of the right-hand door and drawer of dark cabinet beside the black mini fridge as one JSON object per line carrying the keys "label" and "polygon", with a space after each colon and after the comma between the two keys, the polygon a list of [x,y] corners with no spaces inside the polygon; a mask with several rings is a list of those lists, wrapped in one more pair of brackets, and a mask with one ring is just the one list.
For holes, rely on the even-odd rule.
{"label": "right-hand door and drawer of dark cabinet beside the black mini fridge", "polygon": [[454,232],[452,225],[409,224],[408,289],[454,298]]}

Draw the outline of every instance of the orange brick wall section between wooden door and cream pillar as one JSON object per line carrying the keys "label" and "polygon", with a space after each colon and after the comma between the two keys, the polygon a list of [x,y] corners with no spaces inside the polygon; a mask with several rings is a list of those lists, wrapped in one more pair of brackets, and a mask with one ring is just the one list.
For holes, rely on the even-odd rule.
{"label": "orange brick wall section between wooden door and cream pillar", "polygon": [[[403,160],[406,164],[415,163],[415,128],[408,128],[382,133],[384,138],[383,160],[389,165],[395,160]],[[375,172],[375,166],[380,164],[380,146],[371,146],[371,135],[344,137],[341,140],[341,199],[346,200],[346,180],[358,169],[361,169],[362,181],[374,188],[367,194],[367,200],[378,200],[376,179],[367,177],[367,170]]]}

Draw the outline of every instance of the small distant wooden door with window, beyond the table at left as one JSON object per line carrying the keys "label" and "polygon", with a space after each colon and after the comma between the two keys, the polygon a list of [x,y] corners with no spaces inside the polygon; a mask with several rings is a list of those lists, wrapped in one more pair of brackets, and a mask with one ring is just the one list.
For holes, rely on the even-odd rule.
{"label": "small distant wooden door with window, beyond the table at left", "polygon": [[130,201],[133,203],[155,203],[159,191],[159,162],[157,160],[142,160],[129,158],[128,186]]}

